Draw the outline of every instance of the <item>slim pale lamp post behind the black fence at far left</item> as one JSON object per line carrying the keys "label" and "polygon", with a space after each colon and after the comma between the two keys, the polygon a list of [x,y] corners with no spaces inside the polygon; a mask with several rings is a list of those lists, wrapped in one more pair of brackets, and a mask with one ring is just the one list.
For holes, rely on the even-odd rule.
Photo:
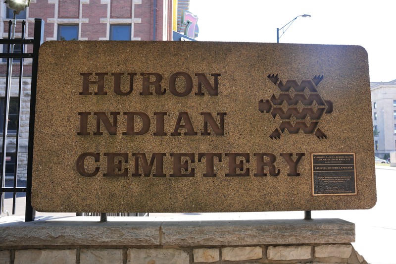
{"label": "slim pale lamp post behind the black fence at far left", "polygon": [[[16,28],[16,15],[19,14],[20,11],[23,11],[26,7],[29,6],[30,0],[5,0],[4,3],[10,9],[13,9],[13,17],[12,17],[12,25],[11,25],[11,34],[10,39],[15,39],[15,28]],[[22,45],[22,44],[21,44]],[[14,53],[14,44],[10,44],[9,46],[9,53]],[[1,187],[5,186],[5,161],[6,161],[6,153],[7,153],[7,130],[8,130],[8,113],[9,113],[9,99],[11,93],[11,75],[12,75],[12,57],[9,58],[8,63],[8,79],[7,79],[7,89],[5,91],[5,112],[4,112],[4,119],[5,119],[5,127],[3,131],[3,139],[2,139],[2,170],[1,170]],[[21,58],[21,63],[23,63],[23,58]],[[21,95],[19,95],[21,96]],[[16,141],[18,142],[18,141]],[[17,160],[18,157],[15,157]],[[4,195],[1,195],[1,213],[9,214],[8,211],[4,210]]]}

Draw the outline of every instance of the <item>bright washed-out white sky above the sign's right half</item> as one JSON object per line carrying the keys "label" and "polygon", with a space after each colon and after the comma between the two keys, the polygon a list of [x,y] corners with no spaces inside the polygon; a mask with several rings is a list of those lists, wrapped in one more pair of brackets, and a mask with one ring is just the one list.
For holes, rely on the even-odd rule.
{"label": "bright washed-out white sky above the sign's right half", "polygon": [[[396,79],[396,0],[190,0],[198,41],[359,45],[370,81]],[[286,29],[286,27],[285,27]],[[281,34],[281,32],[280,32]]]}

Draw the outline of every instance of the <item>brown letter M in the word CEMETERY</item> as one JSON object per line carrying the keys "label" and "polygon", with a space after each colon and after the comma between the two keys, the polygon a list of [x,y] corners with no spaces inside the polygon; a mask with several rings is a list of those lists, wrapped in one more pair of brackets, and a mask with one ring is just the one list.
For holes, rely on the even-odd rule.
{"label": "brown letter M in the word CEMETERY", "polygon": [[153,153],[150,158],[150,163],[148,163],[145,153],[132,153],[132,156],[135,156],[135,172],[132,173],[134,177],[142,176],[142,173],[139,173],[139,160],[142,166],[143,174],[148,177],[151,174],[152,166],[155,161],[155,173],[152,174],[153,177],[165,177],[166,174],[164,171],[164,157],[165,153]]}

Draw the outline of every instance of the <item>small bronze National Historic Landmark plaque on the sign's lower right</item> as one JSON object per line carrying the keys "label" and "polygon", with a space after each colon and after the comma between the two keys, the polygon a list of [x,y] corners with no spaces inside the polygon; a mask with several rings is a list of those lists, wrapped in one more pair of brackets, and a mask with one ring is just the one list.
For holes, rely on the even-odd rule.
{"label": "small bronze National Historic Landmark plaque on the sign's lower right", "polygon": [[312,154],[313,195],[356,194],[354,153]]}

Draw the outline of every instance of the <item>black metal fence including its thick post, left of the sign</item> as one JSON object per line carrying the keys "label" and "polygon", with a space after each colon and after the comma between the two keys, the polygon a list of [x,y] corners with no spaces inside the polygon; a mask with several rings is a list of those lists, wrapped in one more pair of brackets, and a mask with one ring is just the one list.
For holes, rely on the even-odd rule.
{"label": "black metal fence including its thick post, left of the sign", "polygon": [[[34,38],[33,39],[25,39],[25,21],[22,21],[22,29],[21,29],[21,38],[12,39],[11,38],[11,27],[12,21],[10,20],[8,23],[8,39],[0,39],[0,44],[5,45],[6,48],[3,49],[3,53],[0,53],[0,58],[6,59],[7,68],[6,68],[6,85],[5,85],[5,99],[3,104],[3,113],[8,112],[9,109],[9,92],[11,85],[11,74],[12,74],[12,62],[13,59],[18,59],[19,63],[19,90],[18,90],[18,103],[17,103],[17,112],[18,117],[21,116],[21,99],[22,99],[22,80],[23,80],[23,61],[25,58],[32,58],[32,74],[31,74],[31,93],[30,93],[30,113],[29,113],[29,143],[28,143],[28,157],[27,157],[27,180],[25,187],[18,187],[17,182],[17,174],[18,174],[18,154],[19,154],[19,130],[20,130],[20,121],[17,118],[16,124],[16,139],[15,139],[15,162],[13,169],[13,186],[5,187],[5,173],[4,169],[0,175],[0,207],[1,211],[3,211],[3,199],[5,193],[12,193],[12,213],[15,213],[15,201],[17,193],[26,193],[26,207],[25,207],[25,221],[34,221],[35,219],[35,210],[32,208],[31,204],[31,193],[32,193],[32,159],[33,159],[33,135],[34,135],[34,119],[36,112],[36,88],[37,88],[37,70],[38,70],[38,62],[39,62],[39,48],[44,41],[44,21],[42,19],[36,18],[34,23]],[[20,47],[20,49],[11,49],[11,45],[15,45],[16,47]],[[29,49],[27,46],[33,46],[33,52],[28,53],[25,52]],[[14,51],[10,53],[10,51]],[[5,156],[7,153],[7,118],[3,118],[3,135],[2,135],[2,152],[1,152],[1,167],[3,167],[3,163],[5,163]]]}

